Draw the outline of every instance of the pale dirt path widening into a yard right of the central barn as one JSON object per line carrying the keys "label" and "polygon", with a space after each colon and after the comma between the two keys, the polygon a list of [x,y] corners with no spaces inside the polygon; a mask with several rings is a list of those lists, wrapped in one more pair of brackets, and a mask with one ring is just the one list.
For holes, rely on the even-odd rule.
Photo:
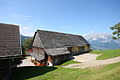
{"label": "pale dirt path widening into a yard right of the central barn", "polygon": [[[75,57],[74,61],[78,61],[78,62],[82,62],[82,63],[70,64],[70,65],[67,65],[64,67],[85,69],[85,68],[89,68],[89,67],[96,67],[96,66],[120,62],[120,56],[115,57],[115,58],[105,59],[105,60],[96,60],[97,56],[99,56],[99,55],[90,54],[90,53],[79,55],[79,56]],[[91,58],[89,58],[89,57],[91,57]]]}

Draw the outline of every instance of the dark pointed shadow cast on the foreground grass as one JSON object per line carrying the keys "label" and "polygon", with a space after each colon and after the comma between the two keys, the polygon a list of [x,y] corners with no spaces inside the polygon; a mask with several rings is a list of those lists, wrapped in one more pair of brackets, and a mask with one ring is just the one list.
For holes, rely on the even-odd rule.
{"label": "dark pointed shadow cast on the foreground grass", "polygon": [[47,66],[26,66],[18,67],[12,70],[12,80],[25,80],[32,77],[43,75],[47,72],[57,69]]}

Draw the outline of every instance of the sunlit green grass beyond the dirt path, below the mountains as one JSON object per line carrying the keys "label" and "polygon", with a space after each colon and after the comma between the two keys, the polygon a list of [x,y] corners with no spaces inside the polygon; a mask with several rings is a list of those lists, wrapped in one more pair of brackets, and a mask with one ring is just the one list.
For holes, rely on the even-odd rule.
{"label": "sunlit green grass beyond the dirt path, below the mountains", "polygon": [[106,50],[106,51],[93,51],[94,54],[101,54],[97,60],[109,59],[120,56],[120,49]]}

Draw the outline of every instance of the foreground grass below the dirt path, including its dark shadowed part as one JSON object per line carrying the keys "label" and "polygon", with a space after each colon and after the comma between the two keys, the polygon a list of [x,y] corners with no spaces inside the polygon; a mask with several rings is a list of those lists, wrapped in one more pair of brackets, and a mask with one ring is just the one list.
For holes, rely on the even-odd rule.
{"label": "foreground grass below the dirt path, including its dark shadowed part", "polygon": [[12,80],[120,80],[120,63],[96,69],[23,67],[13,71]]}

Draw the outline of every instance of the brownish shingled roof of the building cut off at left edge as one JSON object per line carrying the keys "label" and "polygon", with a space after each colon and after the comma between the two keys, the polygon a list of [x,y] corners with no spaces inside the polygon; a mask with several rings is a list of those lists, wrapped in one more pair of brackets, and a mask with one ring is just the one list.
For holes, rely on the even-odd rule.
{"label": "brownish shingled roof of the building cut off at left edge", "polygon": [[20,55],[19,26],[0,23],[0,57]]}

